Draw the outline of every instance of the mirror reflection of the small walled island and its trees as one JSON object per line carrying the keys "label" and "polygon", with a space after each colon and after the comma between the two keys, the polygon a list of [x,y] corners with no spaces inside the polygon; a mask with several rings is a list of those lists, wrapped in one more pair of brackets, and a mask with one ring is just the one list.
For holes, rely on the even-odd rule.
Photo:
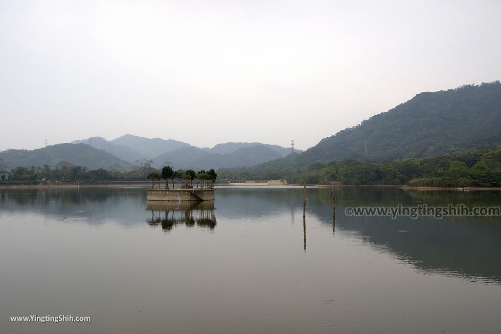
{"label": "mirror reflection of the small walled island and its trees", "polygon": [[170,232],[172,227],[184,224],[186,227],[206,227],[213,230],[216,226],[214,201],[203,202],[159,202],[147,201],[146,209],[151,211],[151,217],[146,219],[150,226],[161,225]]}

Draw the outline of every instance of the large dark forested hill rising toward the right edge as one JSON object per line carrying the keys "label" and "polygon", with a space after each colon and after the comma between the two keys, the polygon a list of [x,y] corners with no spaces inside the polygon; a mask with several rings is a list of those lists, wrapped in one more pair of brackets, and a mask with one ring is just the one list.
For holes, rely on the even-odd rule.
{"label": "large dark forested hill rising toward the right edge", "polygon": [[301,168],[348,157],[373,161],[427,157],[500,144],[501,83],[495,81],[419,93],[322,139],[302,154],[266,162],[257,169]]}

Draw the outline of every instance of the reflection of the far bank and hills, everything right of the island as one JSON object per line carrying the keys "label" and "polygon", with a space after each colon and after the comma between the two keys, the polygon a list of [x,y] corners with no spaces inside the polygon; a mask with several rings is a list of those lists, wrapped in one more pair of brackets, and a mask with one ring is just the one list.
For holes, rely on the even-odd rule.
{"label": "reflection of the far bank and hills, everything right of the island", "polygon": [[[216,200],[231,217],[249,212],[273,217],[303,209],[303,189],[218,189]],[[307,189],[307,220],[319,219],[336,237],[362,239],[379,251],[396,255],[423,273],[459,276],[470,281],[501,283],[501,221],[499,217],[355,217],[346,206],[495,206],[501,191],[406,191],[398,187],[336,187],[336,209],[331,188]],[[336,216],[337,211],[337,216]],[[292,214],[292,217],[294,214]],[[306,250],[306,223],[303,248]],[[347,233],[348,232],[348,233]],[[315,242],[311,237],[309,243]]]}

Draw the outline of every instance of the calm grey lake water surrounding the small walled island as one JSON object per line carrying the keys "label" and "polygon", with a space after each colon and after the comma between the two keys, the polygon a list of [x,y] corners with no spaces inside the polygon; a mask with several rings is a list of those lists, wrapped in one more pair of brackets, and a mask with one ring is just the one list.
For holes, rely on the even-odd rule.
{"label": "calm grey lake water surrounding the small walled island", "polygon": [[[500,192],[0,189],[0,332],[501,332],[501,221],[346,216],[346,206],[499,205]],[[11,322],[16,315],[91,322]]]}

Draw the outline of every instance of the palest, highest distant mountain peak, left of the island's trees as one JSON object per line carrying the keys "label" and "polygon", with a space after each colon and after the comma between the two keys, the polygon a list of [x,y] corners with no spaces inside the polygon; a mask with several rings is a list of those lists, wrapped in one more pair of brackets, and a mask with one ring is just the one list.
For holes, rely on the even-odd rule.
{"label": "palest, highest distant mountain peak, left of the island's trees", "polygon": [[110,140],[110,142],[132,148],[149,159],[165,152],[173,151],[176,148],[190,145],[174,139],[145,138],[133,134],[122,135]]}

